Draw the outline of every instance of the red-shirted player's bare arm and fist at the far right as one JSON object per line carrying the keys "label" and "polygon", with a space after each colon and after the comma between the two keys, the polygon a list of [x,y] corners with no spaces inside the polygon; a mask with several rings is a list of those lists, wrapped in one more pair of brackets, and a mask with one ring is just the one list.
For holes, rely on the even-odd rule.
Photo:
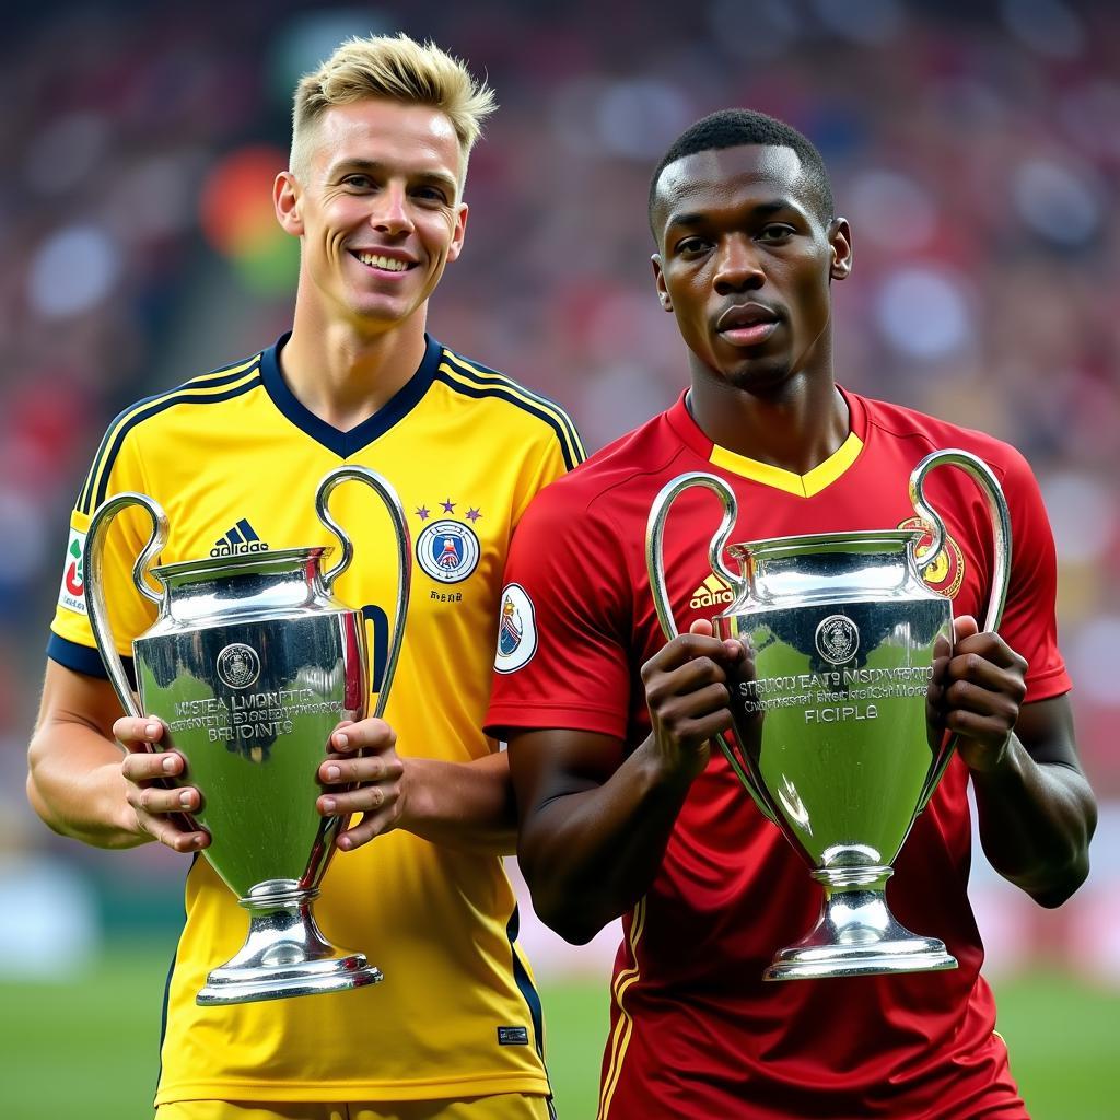
{"label": "red-shirted player's bare arm and fist at the far right", "polygon": [[941,702],[972,772],[984,855],[1037,903],[1060,906],[1089,874],[1096,827],[1068,697],[1023,703],[1026,661],[970,617],[955,627]]}

